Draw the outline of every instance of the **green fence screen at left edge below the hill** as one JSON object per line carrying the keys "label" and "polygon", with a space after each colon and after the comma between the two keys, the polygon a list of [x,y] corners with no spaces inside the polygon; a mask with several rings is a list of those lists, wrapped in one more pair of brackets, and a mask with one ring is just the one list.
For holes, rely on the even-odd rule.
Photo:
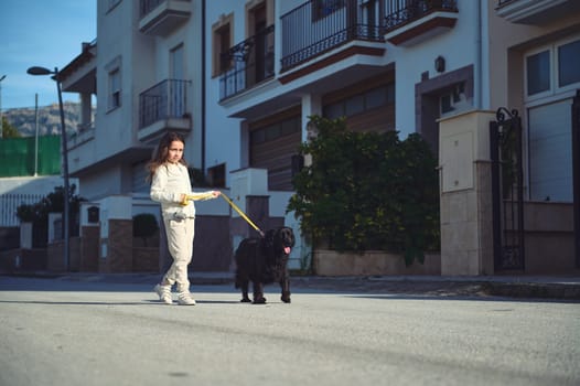
{"label": "green fence screen at left edge below the hill", "polygon": [[[35,138],[0,140],[0,178],[34,175]],[[61,174],[61,136],[39,137],[39,175]]]}

